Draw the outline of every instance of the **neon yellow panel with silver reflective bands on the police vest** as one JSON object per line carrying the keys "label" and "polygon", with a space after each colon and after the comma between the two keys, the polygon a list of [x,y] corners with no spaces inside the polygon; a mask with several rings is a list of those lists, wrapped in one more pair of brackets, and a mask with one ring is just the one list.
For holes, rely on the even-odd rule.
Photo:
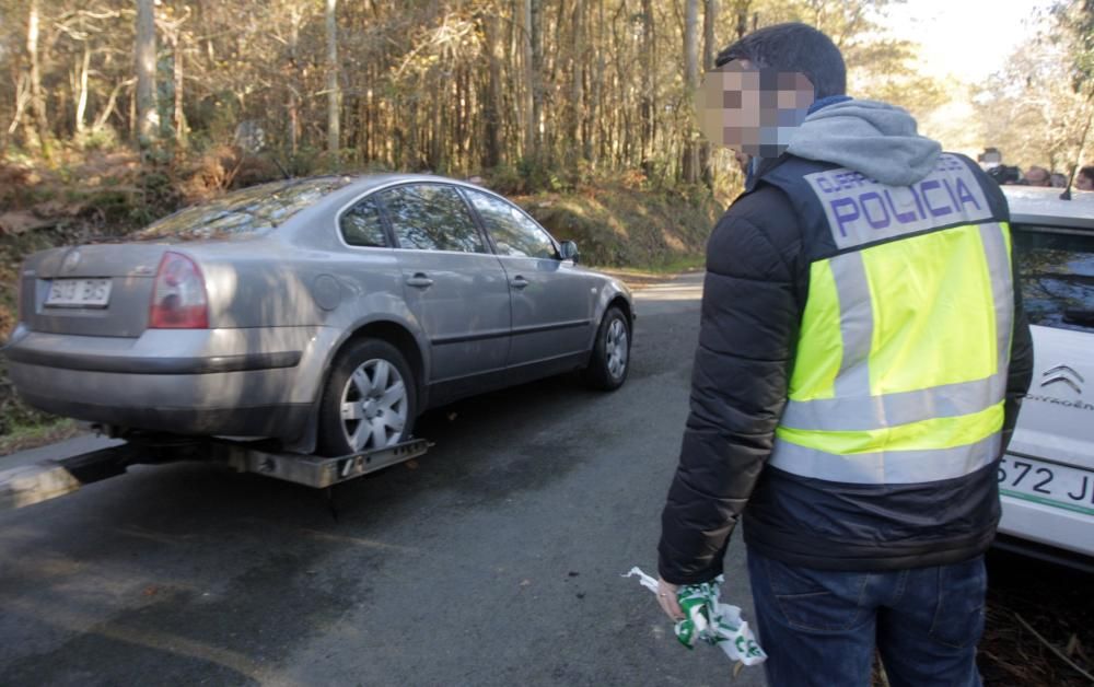
{"label": "neon yellow panel with silver reflective bands on the police vest", "polygon": [[[965,176],[938,188],[961,185],[975,214],[987,203]],[[771,465],[911,484],[961,477],[998,456],[1013,328],[1010,228],[964,219],[974,221],[917,233],[920,222],[910,236],[812,265]],[[857,238],[853,222],[839,226],[848,229]]]}

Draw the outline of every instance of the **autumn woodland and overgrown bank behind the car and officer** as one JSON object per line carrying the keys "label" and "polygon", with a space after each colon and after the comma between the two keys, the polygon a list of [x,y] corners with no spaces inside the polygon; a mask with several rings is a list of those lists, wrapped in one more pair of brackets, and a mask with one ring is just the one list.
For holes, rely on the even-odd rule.
{"label": "autumn woodland and overgrown bank behind the car and officer", "polygon": [[[742,178],[698,132],[696,89],[721,48],[785,21],[833,37],[851,95],[908,108],[947,148],[1090,163],[1094,0],[1032,10],[1027,43],[982,83],[922,70],[921,46],[889,31],[903,5],[0,0],[0,337],[28,253],[283,176],[477,178],[591,264],[698,265]],[[0,435],[40,420],[0,366]]]}

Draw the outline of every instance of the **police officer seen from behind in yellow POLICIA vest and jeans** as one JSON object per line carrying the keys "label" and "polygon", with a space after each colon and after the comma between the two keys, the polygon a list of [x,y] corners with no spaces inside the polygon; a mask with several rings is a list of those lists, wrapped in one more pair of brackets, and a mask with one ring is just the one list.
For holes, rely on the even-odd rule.
{"label": "police officer seen from behind in yellow POLICIA vest and jeans", "polygon": [[712,130],[754,163],[708,244],[659,601],[678,617],[741,519],[771,685],[869,685],[875,648],[894,685],[977,685],[1033,356],[1006,201],[905,110],[843,95],[812,27],[718,66]]}

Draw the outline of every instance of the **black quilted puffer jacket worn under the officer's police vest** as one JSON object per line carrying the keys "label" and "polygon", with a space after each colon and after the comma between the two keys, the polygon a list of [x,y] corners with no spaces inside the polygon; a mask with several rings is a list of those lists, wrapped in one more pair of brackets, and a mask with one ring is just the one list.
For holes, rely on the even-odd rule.
{"label": "black quilted puffer jacket worn under the officer's police vest", "polygon": [[[758,176],[761,178],[780,161],[766,161]],[[794,348],[808,293],[810,264],[803,241],[803,228],[787,195],[763,183],[734,202],[710,237],[690,415],[679,465],[662,514],[659,569],[674,584],[703,582],[720,574],[733,527],[742,514],[748,521],[745,506],[761,481],[787,403]],[[1033,359],[1017,289],[1015,315],[1004,447],[1020,399],[1029,384]],[[770,487],[773,480],[763,481]],[[990,484],[993,486],[993,479]],[[777,521],[777,494],[765,496],[764,519]],[[987,547],[998,519],[996,501],[996,511],[984,513],[981,520],[986,524],[978,525],[980,529],[988,528],[987,540],[978,534],[975,544],[967,548]],[[752,546],[753,529],[749,525],[746,529]],[[759,529],[756,527],[756,536],[766,536],[767,540],[755,544],[763,547],[766,556],[806,567],[847,568],[829,560],[828,552],[823,550],[824,542],[812,545],[815,550],[811,556],[808,542],[783,547],[783,542],[772,540],[775,535],[767,534],[778,527],[766,527],[764,534]],[[893,560],[885,560],[888,555],[884,550],[878,551],[881,562],[872,562],[871,543],[860,544],[865,554],[856,558],[854,567],[894,567]],[[794,547],[793,555],[780,556],[781,550]],[[968,558],[977,552],[951,551],[948,556]],[[905,557],[898,563],[915,567],[917,560]]]}

